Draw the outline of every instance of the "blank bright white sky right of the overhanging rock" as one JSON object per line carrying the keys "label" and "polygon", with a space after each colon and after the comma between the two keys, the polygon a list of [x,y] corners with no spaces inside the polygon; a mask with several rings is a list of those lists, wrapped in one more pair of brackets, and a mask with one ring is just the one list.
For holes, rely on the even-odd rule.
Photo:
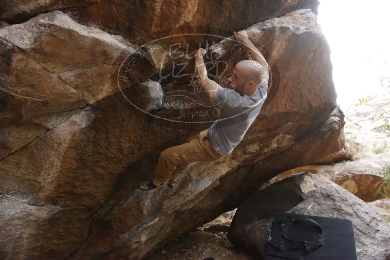
{"label": "blank bright white sky right of the overhanging rock", "polygon": [[320,0],[317,22],[331,49],[337,103],[385,91],[379,78],[390,75],[390,0]]}

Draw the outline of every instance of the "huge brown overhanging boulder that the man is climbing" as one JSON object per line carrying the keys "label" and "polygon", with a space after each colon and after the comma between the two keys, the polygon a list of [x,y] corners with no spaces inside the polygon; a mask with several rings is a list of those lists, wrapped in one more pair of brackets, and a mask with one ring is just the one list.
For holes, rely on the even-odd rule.
{"label": "huge brown overhanging boulder that the man is climbing", "polygon": [[[37,26],[30,28],[32,23]],[[15,37],[29,28],[33,37]],[[7,113],[0,131],[19,127],[21,136],[4,143],[8,150],[0,160],[0,193],[41,207],[42,212],[52,212],[52,206],[63,212],[79,208],[74,212],[84,223],[77,226],[76,240],[64,242],[62,252],[50,255],[55,245],[48,243],[49,253],[41,250],[35,252],[37,256],[141,259],[174,237],[233,209],[256,184],[281,171],[348,158],[343,152],[344,120],[336,107],[330,50],[315,14],[310,9],[298,10],[255,24],[248,32],[255,45],[268,52],[271,69],[279,71],[273,74],[274,84],[258,118],[232,154],[215,162],[191,164],[174,190],[145,194],[137,185],[151,176],[160,152],[186,142],[199,130],[154,124],[150,117],[142,120],[130,112],[130,104],[119,90],[102,81],[111,78],[110,74],[92,76],[94,67],[117,65],[114,57],[121,53],[120,46],[126,46],[125,50],[137,46],[81,25],[60,11],[0,29],[1,67],[13,68],[1,71],[9,84],[1,86]],[[226,51],[221,59],[232,70],[243,57],[233,52],[228,39],[217,45]],[[75,52],[74,46],[77,55],[70,58],[67,55]],[[88,49],[93,46],[104,55]],[[155,56],[147,48],[143,51],[145,63],[134,71],[134,84],[158,73],[156,63],[170,66],[160,62],[164,50],[159,49]],[[227,55],[229,52],[233,54]],[[31,61],[26,62],[30,67],[23,67],[28,77],[15,74],[22,67],[18,60]],[[150,70],[143,70],[145,66]],[[28,85],[30,78],[36,91],[27,87],[21,91],[20,86]],[[174,82],[163,82],[161,88],[169,90],[172,85]],[[162,106],[158,110],[170,114],[175,109]],[[24,134],[29,128],[19,124],[39,127],[30,126],[34,133]],[[3,202],[1,206],[8,207]],[[20,210],[22,215],[30,212],[29,207]],[[72,222],[64,219],[68,217],[63,214],[44,221],[64,223],[61,230],[66,231],[73,228]],[[1,225],[8,223],[11,220],[3,218]],[[39,236],[12,230],[27,241]],[[62,238],[61,234],[55,233],[54,240]],[[2,248],[9,248],[5,257],[31,253],[30,247],[13,248],[12,240],[0,241]]]}

